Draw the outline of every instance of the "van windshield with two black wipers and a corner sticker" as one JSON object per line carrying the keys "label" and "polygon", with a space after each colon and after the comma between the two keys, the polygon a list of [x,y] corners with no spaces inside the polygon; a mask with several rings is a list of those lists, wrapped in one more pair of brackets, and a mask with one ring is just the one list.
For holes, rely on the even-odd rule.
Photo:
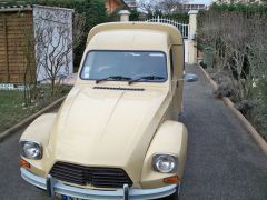
{"label": "van windshield with two black wipers and a corner sticker", "polygon": [[80,78],[97,82],[165,82],[166,54],[159,51],[89,51]]}

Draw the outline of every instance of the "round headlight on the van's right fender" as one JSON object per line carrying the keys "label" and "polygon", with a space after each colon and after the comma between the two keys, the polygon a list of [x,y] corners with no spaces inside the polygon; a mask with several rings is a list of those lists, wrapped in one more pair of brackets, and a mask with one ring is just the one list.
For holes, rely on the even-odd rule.
{"label": "round headlight on the van's right fender", "polygon": [[172,154],[155,154],[152,166],[155,171],[174,173],[178,169],[178,158]]}

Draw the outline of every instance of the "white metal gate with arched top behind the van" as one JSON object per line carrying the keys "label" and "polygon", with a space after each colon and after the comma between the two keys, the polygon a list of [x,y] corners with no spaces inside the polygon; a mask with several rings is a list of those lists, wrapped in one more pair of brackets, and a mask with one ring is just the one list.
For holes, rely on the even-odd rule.
{"label": "white metal gate with arched top behind the van", "polygon": [[189,50],[188,50],[188,36],[189,36],[189,24],[181,23],[176,20],[167,19],[167,18],[160,18],[159,16],[156,18],[151,18],[147,20],[148,22],[158,22],[158,23],[168,23],[177,27],[179,29],[182,38],[184,38],[184,44],[185,44],[185,62],[188,62],[189,59]]}

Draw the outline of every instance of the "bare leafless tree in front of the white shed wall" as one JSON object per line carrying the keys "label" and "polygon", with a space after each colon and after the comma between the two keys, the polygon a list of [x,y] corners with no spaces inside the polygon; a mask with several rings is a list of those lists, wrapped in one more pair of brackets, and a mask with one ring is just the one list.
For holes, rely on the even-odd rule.
{"label": "bare leafless tree in front of the white shed wall", "polygon": [[[60,82],[56,82],[60,69],[68,71],[70,62],[69,53],[72,51],[72,41],[69,39],[69,30],[62,27],[46,26],[36,30],[37,69],[44,69],[51,81],[51,94],[53,96]],[[58,83],[58,84],[57,84]]]}

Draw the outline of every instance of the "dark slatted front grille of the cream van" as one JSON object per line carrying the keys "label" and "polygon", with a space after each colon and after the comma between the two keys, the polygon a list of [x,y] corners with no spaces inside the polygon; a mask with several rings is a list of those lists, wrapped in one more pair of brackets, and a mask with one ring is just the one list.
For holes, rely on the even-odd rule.
{"label": "dark slatted front grille of the cream van", "polygon": [[96,188],[122,188],[132,186],[128,174],[118,168],[96,168],[72,163],[57,162],[50,174],[61,181],[75,184],[91,184]]}

